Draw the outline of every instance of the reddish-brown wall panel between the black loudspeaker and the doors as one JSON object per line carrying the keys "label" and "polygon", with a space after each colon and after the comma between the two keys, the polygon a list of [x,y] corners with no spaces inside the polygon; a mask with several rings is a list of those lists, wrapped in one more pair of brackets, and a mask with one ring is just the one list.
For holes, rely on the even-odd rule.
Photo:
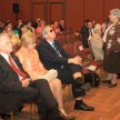
{"label": "reddish-brown wall panel between the black loudspeaker and the doors", "polygon": [[18,18],[22,21],[31,19],[31,0],[17,0],[17,2],[20,9]]}

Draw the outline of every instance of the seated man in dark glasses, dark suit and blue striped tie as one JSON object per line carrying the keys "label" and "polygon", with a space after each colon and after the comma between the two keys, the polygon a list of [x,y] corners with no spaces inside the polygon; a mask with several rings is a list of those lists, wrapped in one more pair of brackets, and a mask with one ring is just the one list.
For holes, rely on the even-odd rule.
{"label": "seated man in dark glasses, dark suit and blue striped tie", "polygon": [[76,99],[74,109],[91,111],[94,108],[87,106],[82,101],[84,90],[89,84],[82,83],[81,58],[68,54],[58,41],[54,40],[56,33],[50,26],[41,30],[43,41],[38,46],[41,62],[47,70],[58,70],[58,78],[62,83],[71,83]]}

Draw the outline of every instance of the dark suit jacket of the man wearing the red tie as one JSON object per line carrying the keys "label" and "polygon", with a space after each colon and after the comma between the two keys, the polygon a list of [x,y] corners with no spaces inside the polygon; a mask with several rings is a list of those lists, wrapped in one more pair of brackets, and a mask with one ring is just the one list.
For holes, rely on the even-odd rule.
{"label": "dark suit jacket of the man wearing the red tie", "polygon": [[[16,56],[11,57],[19,67],[19,69],[24,72],[19,59]],[[0,113],[17,110],[22,103],[21,93],[22,83],[19,81],[18,74],[13,71],[13,69],[6,61],[6,59],[0,54]]]}

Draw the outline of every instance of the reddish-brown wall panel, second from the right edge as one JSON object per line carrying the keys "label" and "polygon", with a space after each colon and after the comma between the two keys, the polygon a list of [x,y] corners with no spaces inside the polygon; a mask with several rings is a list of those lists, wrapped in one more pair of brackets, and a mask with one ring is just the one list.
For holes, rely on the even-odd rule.
{"label": "reddish-brown wall panel, second from the right edge", "polygon": [[103,0],[84,0],[86,19],[94,19],[98,23],[103,22]]}

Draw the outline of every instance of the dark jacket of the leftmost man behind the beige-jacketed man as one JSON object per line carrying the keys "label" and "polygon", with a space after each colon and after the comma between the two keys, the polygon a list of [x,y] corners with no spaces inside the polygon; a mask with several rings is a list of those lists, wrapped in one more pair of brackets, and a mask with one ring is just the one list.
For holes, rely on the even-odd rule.
{"label": "dark jacket of the leftmost man behind the beige-jacketed man", "polygon": [[89,29],[86,26],[83,26],[81,28],[80,33],[82,33],[82,37],[83,37],[82,39],[83,47],[88,47]]}

